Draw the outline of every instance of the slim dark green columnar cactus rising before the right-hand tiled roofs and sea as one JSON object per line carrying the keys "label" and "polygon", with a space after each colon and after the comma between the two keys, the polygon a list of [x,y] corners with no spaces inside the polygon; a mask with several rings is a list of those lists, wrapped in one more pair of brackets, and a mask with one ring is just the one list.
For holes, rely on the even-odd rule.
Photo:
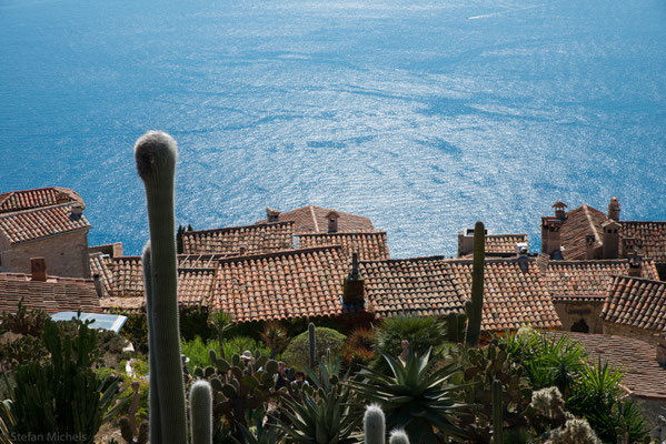
{"label": "slim dark green columnar cactus rising before the right-hand tiled roofs and sea", "polygon": [[467,312],[467,332],[465,343],[478,346],[481,335],[481,315],[484,310],[484,262],[486,259],[486,229],[483,222],[474,225],[474,264],[471,269],[471,300],[465,301]]}

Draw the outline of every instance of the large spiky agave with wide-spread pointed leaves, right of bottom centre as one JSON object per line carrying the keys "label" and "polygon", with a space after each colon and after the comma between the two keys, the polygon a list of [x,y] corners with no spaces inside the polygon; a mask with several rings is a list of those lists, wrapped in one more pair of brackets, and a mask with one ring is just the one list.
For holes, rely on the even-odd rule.
{"label": "large spiky agave with wide-spread pointed leaves, right of bottom centre", "polygon": [[448,436],[466,437],[466,432],[455,424],[459,410],[457,401],[460,386],[449,382],[457,376],[457,364],[434,370],[428,350],[421,356],[409,354],[407,361],[396,361],[382,354],[392,375],[371,369],[351,381],[351,386],[369,402],[380,404],[386,414],[387,428],[405,428],[411,442],[435,443],[435,430]]}

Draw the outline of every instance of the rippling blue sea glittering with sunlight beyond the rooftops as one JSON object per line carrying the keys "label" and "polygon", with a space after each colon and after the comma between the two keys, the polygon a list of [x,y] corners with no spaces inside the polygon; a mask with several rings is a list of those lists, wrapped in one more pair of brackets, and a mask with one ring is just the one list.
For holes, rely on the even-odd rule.
{"label": "rippling blue sea glittering with sunlight beyond the rooftops", "polygon": [[0,192],[71,188],[137,253],[151,129],[196,229],[312,203],[410,256],[476,220],[538,250],[557,199],[666,220],[666,2],[0,0]]}

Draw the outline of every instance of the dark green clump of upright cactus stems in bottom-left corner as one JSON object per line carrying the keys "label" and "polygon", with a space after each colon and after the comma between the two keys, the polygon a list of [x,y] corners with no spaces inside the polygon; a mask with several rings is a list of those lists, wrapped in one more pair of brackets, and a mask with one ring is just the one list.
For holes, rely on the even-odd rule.
{"label": "dark green clump of upright cactus stems in bottom-left corner", "polygon": [[117,404],[109,411],[120,380],[100,381],[91,369],[97,332],[85,323],[77,324],[78,332],[72,336],[61,331],[58,323],[46,321],[42,341],[51,359],[14,370],[9,408],[16,417],[16,433],[42,438],[48,434],[69,434],[79,436],[81,443],[92,443],[102,422],[121,406]]}

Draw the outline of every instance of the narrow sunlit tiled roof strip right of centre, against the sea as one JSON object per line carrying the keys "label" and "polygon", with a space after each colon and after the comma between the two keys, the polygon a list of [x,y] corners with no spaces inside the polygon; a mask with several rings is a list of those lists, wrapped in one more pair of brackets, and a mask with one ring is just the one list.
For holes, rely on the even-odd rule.
{"label": "narrow sunlit tiled roof strip right of centre, against the sea", "polygon": [[386,232],[374,231],[365,233],[326,233],[326,234],[300,234],[299,248],[341,245],[348,258],[357,252],[360,261],[377,261],[388,259],[388,244]]}

